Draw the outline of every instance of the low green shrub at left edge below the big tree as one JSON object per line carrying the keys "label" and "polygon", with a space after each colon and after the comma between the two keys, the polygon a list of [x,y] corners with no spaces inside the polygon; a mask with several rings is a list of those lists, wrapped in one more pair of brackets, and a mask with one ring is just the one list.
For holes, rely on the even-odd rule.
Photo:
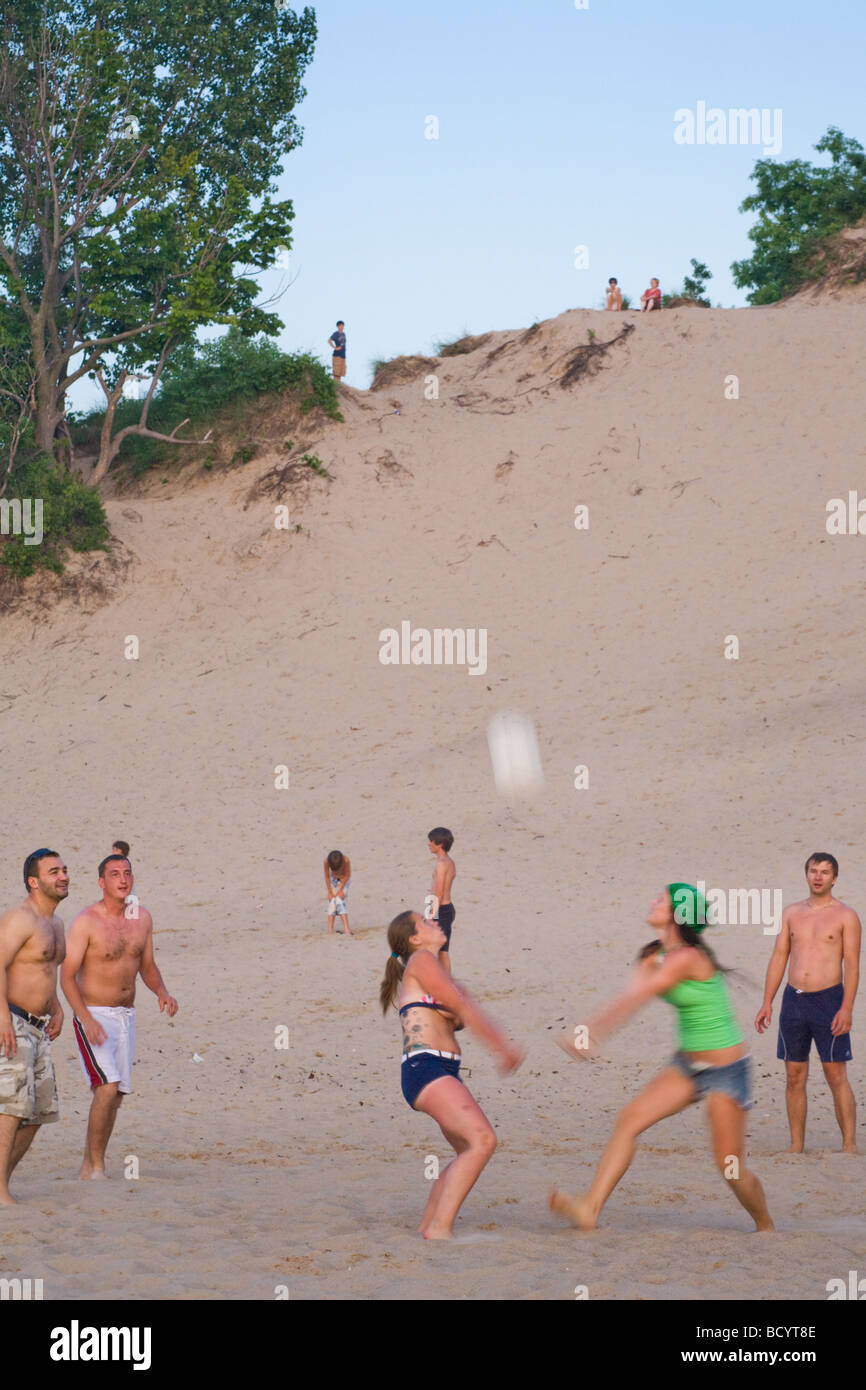
{"label": "low green shrub at left edge below the big tree", "polygon": [[106,509],[97,492],[39,455],[13,468],[6,499],[42,499],[40,545],[25,545],[24,537],[0,535],[0,564],[24,578],[36,567],[61,574],[65,550],[106,550],[110,541]]}

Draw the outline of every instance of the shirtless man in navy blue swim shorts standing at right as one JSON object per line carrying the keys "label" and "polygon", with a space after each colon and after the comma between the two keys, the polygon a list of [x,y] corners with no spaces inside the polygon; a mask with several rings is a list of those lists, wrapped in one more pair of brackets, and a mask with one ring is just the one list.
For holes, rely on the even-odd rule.
{"label": "shirtless man in navy blue swim shorts standing at right", "polygon": [[[856,912],[833,897],[840,866],[833,855],[806,859],[809,897],[785,908],[781,930],[767,966],[763,1004],[755,1027],[763,1033],[773,1016],[773,999],[791,969],[778,1015],[777,1056],[785,1063],[790,1154],[802,1154],[806,1136],[806,1077],[809,1048],[817,1055],[833,1091],[835,1118],[842,1131],[842,1152],[856,1154],[853,1091],[845,1063],[851,1061],[851,1013],[860,969],[860,920]],[[844,967],[844,984],[842,984]]]}

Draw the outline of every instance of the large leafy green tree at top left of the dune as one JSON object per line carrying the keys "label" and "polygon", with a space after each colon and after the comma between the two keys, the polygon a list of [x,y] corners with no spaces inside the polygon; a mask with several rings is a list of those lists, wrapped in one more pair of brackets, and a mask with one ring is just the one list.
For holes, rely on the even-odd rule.
{"label": "large leafy green tree at top left of the dune", "polygon": [[[314,42],[313,10],[297,15],[282,0],[3,8],[0,420],[10,442],[24,400],[35,446],[68,460],[65,398],[89,375],[106,396],[99,482],[125,435],[154,435],[160,377],[197,328],[279,331],[254,275],[291,246],[292,203],[274,199],[274,179],[302,139],[292,113]],[[138,420],[114,431],[131,375],[147,391]],[[183,424],[160,436],[199,442],[179,438]]]}

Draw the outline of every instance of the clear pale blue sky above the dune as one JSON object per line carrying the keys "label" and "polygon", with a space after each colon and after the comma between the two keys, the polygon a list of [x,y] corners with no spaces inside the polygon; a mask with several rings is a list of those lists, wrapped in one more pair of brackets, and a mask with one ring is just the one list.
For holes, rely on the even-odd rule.
{"label": "clear pale blue sky above the dune", "polygon": [[[866,143],[863,0],[314,8],[304,139],[279,179],[297,275],[279,341],[329,360],[345,318],[354,386],[373,357],[598,307],[609,275],[634,299],[651,275],[671,289],[692,256],[713,303],[745,304],[728,267],[749,254],[737,207],[763,149],[677,145],[677,110],[778,108],[781,160],[817,160],[828,125]],[[263,293],[285,279],[267,272]]]}

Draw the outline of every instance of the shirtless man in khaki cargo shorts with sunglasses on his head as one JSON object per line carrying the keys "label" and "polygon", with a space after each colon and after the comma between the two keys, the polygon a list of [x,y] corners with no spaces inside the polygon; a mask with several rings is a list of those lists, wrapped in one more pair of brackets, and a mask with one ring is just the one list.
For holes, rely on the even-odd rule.
{"label": "shirtless man in khaki cargo shorts with sunglasses on his head", "polygon": [[40,1125],[60,1118],[50,1040],[63,1027],[57,966],[63,922],[54,909],[70,892],[53,849],[24,865],[26,898],[0,916],[0,1205],[13,1207],[8,1180]]}

